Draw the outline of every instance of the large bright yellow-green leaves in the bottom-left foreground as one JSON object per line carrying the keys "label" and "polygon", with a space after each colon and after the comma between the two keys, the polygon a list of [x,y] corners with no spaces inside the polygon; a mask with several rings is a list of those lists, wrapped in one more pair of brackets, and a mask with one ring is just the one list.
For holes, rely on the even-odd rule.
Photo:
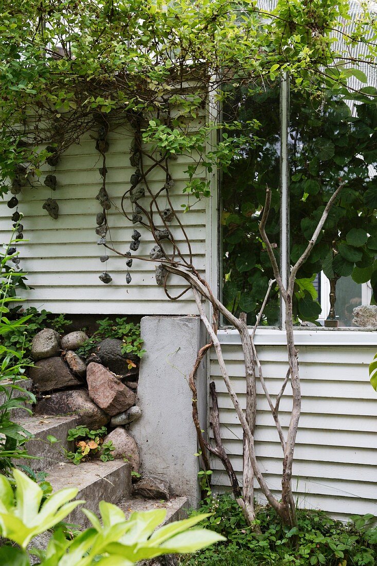
{"label": "large bright yellow-green leaves in the bottom-left foreground", "polygon": [[[27,548],[33,538],[55,528],[59,522],[84,501],[72,501],[76,488],[65,488],[42,502],[41,488],[14,470],[16,490],[8,479],[0,476],[0,535],[18,546],[0,548],[3,566],[29,566]],[[164,554],[195,552],[225,538],[209,529],[196,527],[207,515],[198,515],[158,528],[166,509],[134,512],[126,520],[116,505],[101,501],[101,521],[95,513],[83,509],[92,524],[67,539],[63,529],[55,530],[46,550],[31,550],[40,566],[132,566],[140,560]],[[34,562],[33,562],[34,563]]]}

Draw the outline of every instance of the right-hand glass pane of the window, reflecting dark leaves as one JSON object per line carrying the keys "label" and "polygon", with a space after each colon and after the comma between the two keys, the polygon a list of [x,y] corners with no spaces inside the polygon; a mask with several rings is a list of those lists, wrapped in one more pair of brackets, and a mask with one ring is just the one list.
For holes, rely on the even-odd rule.
{"label": "right-hand glass pane of the window, reflecting dark leaves", "polygon": [[344,89],[311,100],[291,93],[291,263],[305,249],[340,179],[345,182],[323,234],[298,272],[297,324],[352,326],[353,308],[370,303],[366,286],[377,273],[376,127],[376,106],[368,96],[347,95]]}

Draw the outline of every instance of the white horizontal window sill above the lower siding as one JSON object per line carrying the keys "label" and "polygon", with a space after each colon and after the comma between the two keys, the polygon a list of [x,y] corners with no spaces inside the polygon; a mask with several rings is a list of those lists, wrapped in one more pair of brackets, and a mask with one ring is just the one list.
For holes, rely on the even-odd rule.
{"label": "white horizontal window sill above the lower siding", "polygon": [[[251,329],[250,329],[251,332]],[[217,332],[221,344],[241,344],[235,329],[221,328]],[[377,331],[367,328],[295,328],[297,346],[376,346]],[[285,345],[285,331],[276,328],[258,328],[255,344]]]}

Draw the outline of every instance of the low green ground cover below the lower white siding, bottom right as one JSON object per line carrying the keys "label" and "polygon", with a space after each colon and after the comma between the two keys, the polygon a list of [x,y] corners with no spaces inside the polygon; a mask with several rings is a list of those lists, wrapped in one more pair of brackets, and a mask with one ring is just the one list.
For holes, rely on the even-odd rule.
{"label": "low green ground cover below the lower white siding, bottom right", "polygon": [[256,514],[260,532],[248,526],[229,495],[209,496],[192,512],[211,513],[203,526],[224,535],[226,543],[185,557],[185,566],[374,566],[377,564],[376,517],[354,516],[348,524],[322,511],[297,511],[297,526],[281,524],[270,507]]}

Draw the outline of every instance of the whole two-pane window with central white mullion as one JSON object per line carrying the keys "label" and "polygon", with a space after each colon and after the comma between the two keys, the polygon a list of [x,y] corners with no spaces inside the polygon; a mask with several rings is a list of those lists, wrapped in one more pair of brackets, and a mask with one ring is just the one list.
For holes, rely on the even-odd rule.
{"label": "whole two-pane window with central white mullion", "polygon": [[[265,186],[272,190],[267,233],[284,266],[301,255],[342,179],[298,273],[294,312],[297,325],[352,327],[353,308],[377,298],[377,111],[368,96],[377,91],[313,98],[292,91],[289,103],[287,91],[284,82],[253,84],[228,93],[224,104],[223,121],[237,120],[246,141],[220,182],[223,301],[254,324],[273,278],[258,231]],[[274,287],[262,324],[279,326],[280,310]]]}

